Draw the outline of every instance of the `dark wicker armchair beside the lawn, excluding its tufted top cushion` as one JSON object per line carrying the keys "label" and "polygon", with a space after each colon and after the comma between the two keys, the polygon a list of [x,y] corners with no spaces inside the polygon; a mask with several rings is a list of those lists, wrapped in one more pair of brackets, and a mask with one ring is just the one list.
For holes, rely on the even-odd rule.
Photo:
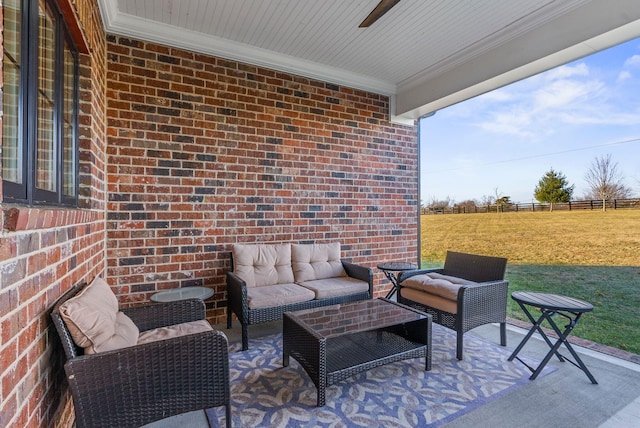
{"label": "dark wicker armchair beside the lawn, excluding its tufted top cushion", "polygon": [[[509,287],[504,280],[506,266],[507,259],[504,258],[449,251],[442,269],[402,272],[398,277],[398,302],[427,312],[433,316],[434,322],[455,330],[456,357],[459,360],[462,360],[464,333],[484,324],[500,323],[500,345],[506,346]],[[411,277],[430,272],[473,281],[475,284],[461,285],[451,302],[429,293],[429,290],[410,290],[402,284]]]}

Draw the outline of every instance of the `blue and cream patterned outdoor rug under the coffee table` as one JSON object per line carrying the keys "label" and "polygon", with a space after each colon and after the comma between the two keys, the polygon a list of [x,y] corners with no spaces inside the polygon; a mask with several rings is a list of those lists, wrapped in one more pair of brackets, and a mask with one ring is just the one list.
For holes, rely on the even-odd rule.
{"label": "blue and cream patterned outdoor rug under the coffee table", "polygon": [[[234,427],[438,427],[507,394],[531,373],[497,344],[465,335],[464,360],[455,333],[433,324],[432,370],[424,359],[388,364],[331,385],[316,407],[316,387],[298,362],[282,367],[282,336],[231,345],[229,367]],[[535,364],[535,362],[532,362]],[[554,369],[545,368],[541,376]],[[212,427],[224,408],[208,409]]]}

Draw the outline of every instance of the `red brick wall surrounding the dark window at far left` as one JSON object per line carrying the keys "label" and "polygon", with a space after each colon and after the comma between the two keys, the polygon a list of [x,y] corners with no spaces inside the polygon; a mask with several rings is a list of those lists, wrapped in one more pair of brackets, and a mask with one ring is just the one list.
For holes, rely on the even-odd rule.
{"label": "red brick wall surrounding the dark window at far left", "polygon": [[94,0],[74,1],[81,55],[81,209],[0,205],[0,426],[71,426],[73,408],[50,308],[105,270],[105,36]]}

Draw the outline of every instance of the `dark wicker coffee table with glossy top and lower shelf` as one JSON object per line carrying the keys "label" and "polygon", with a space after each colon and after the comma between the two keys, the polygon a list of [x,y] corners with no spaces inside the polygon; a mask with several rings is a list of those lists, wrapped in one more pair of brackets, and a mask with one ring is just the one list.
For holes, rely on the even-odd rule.
{"label": "dark wicker coffee table with glossy top and lower shelf", "polygon": [[327,386],[383,364],[425,358],[431,370],[431,315],[387,299],[283,315],[283,365],[295,358],[325,404]]}

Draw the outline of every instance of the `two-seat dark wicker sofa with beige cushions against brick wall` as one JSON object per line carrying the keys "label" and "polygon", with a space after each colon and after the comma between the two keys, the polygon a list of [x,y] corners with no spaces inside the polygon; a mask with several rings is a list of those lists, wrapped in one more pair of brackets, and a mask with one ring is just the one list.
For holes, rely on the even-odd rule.
{"label": "two-seat dark wicker sofa with beige cushions against brick wall", "polygon": [[249,349],[248,326],[287,311],[371,299],[373,270],[340,258],[339,242],[235,244],[227,273],[227,328],[232,314]]}

